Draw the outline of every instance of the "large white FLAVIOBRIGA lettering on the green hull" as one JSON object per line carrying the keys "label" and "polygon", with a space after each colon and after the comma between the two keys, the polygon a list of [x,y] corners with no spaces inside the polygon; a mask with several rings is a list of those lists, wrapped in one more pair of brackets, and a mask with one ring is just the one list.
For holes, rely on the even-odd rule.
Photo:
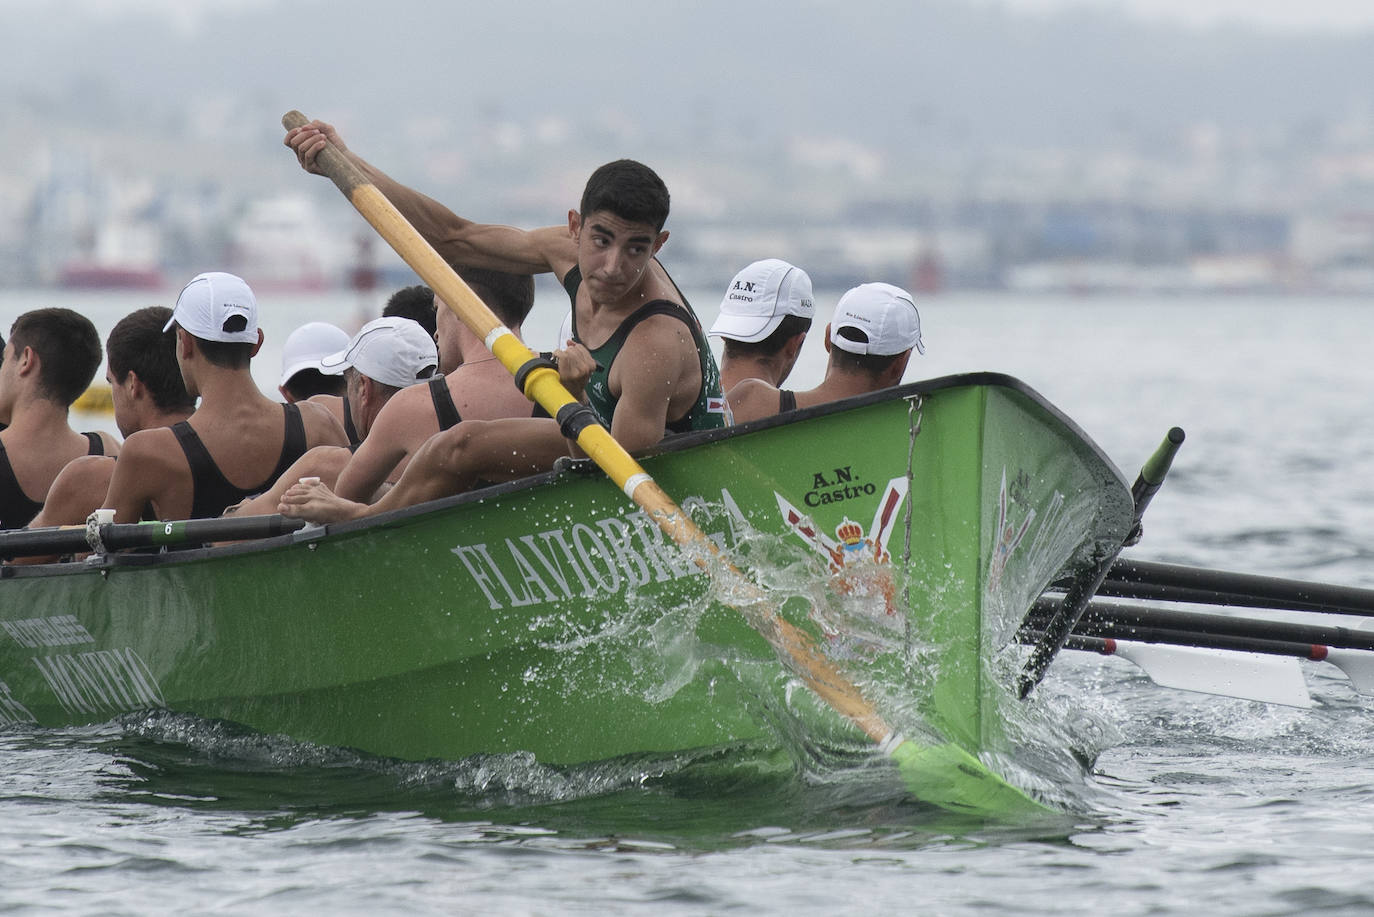
{"label": "large white FLAVIOBRIGA lettering on the green hull", "polygon": [[[730,535],[738,539],[734,517],[739,507],[727,491],[721,491],[721,496]],[[688,513],[702,506],[701,498],[682,502]],[[724,533],[709,538],[725,547]],[[463,562],[493,610],[573,597],[614,595],[699,573],[691,558],[669,542],[643,510],[507,538],[499,544],[478,542],[449,550]]]}

